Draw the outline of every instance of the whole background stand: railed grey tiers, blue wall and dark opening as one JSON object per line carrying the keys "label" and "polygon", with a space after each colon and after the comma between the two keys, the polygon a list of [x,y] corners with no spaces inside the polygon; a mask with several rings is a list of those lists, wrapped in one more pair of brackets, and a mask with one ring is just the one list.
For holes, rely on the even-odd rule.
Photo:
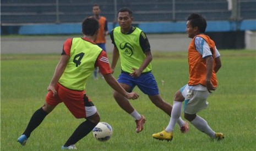
{"label": "whole background stand: railed grey tiers, blue wall and dark opening", "polygon": [[187,16],[200,13],[210,23],[208,34],[218,37],[219,48],[242,49],[245,31],[256,31],[256,0],[236,0],[238,8],[232,1],[2,0],[1,35],[80,34],[80,22],[92,15],[92,5],[98,3],[110,30],[117,25],[116,12],[121,7],[134,11],[133,26],[146,33],[183,33]]}

